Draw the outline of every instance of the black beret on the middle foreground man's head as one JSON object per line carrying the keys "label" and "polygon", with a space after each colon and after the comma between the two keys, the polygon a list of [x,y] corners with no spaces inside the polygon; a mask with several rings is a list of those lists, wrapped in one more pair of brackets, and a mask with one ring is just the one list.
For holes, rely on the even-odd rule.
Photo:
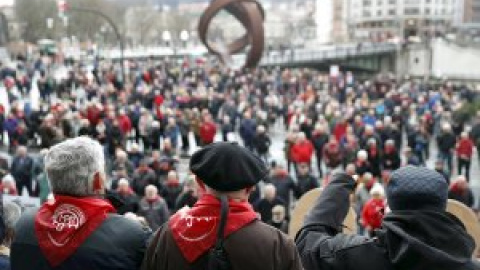
{"label": "black beret on the middle foreground man's head", "polygon": [[257,156],[236,143],[213,143],[195,152],[190,170],[210,188],[232,192],[257,184],[268,169]]}

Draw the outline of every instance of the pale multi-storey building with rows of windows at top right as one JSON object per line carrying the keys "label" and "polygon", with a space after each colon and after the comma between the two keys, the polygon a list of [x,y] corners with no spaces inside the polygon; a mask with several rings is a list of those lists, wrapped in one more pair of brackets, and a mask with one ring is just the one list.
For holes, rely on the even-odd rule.
{"label": "pale multi-storey building with rows of windows at top right", "polygon": [[350,37],[382,41],[446,32],[463,19],[465,0],[343,1]]}

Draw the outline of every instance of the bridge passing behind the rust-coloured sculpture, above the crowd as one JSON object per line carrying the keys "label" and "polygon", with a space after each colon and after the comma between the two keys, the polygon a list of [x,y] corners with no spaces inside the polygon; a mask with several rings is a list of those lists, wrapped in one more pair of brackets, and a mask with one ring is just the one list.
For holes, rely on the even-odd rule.
{"label": "bridge passing behind the rust-coloured sculpture, above the crowd", "polygon": [[[395,70],[398,45],[393,43],[363,43],[343,45],[322,45],[315,49],[265,51],[260,62],[262,67],[309,67],[328,69],[331,65],[351,71],[376,73]],[[126,59],[161,57],[206,56],[204,47],[170,48],[138,47],[125,50]],[[120,58],[118,49],[102,50],[100,56],[107,59]],[[232,57],[232,66],[241,66],[244,54]]]}

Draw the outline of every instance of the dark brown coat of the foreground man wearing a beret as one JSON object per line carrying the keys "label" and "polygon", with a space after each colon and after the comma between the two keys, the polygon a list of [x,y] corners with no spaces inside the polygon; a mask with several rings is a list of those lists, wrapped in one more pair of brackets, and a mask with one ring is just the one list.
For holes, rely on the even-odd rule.
{"label": "dark brown coat of the foreground man wearing a beret", "polygon": [[[225,240],[231,270],[301,270],[295,245],[279,230],[254,221]],[[208,252],[189,264],[169,226],[160,228],[148,248],[142,270],[204,270]]]}

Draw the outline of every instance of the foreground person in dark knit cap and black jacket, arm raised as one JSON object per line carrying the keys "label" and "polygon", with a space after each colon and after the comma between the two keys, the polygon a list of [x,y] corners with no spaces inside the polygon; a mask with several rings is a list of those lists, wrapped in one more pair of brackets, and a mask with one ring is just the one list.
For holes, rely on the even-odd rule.
{"label": "foreground person in dark knit cap and black jacket, arm raised", "polygon": [[375,237],[342,234],[355,180],[338,174],[295,239],[306,270],[478,270],[474,240],[446,212],[448,185],[436,171],[407,166],[387,185],[386,214]]}

